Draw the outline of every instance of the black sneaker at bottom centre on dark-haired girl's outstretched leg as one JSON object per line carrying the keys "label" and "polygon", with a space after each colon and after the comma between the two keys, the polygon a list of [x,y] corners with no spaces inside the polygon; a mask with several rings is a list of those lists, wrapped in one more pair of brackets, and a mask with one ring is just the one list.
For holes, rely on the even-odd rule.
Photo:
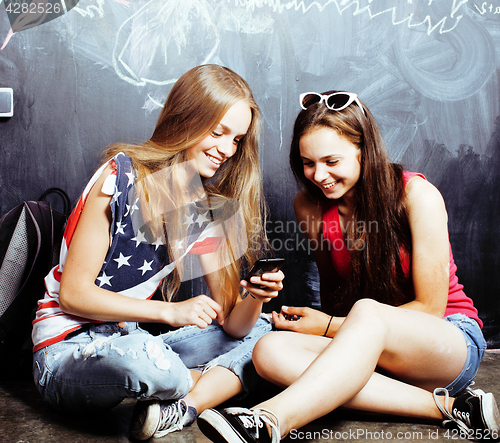
{"label": "black sneaker at bottom centre on dark-haired girl's outstretched leg", "polygon": [[[266,424],[271,428],[271,437]],[[266,409],[207,409],[198,416],[198,427],[216,443],[279,443],[277,417]]]}

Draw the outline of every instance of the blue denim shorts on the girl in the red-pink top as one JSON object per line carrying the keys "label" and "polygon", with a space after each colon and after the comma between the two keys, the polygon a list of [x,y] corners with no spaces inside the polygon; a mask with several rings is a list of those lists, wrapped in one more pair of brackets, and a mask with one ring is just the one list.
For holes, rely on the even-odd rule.
{"label": "blue denim shorts on the girl in the red-pink top", "polygon": [[463,314],[449,315],[444,319],[460,329],[467,342],[467,360],[462,372],[446,386],[450,396],[453,397],[472,383],[486,351],[486,341],[476,320]]}

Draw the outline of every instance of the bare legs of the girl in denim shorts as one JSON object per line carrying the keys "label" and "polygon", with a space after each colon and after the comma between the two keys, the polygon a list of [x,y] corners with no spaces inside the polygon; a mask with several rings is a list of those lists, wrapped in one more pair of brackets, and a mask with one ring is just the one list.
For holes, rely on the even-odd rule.
{"label": "bare legs of the girl in denim shorts", "polygon": [[[283,363],[290,347],[273,346],[271,355],[277,366],[281,364],[279,371],[271,367],[270,350],[265,349],[272,336],[259,342],[254,361],[261,376],[288,388],[257,407],[276,414],[282,435],[342,405],[441,418],[426,389],[453,381],[467,356],[465,339],[455,326],[373,300],[356,303],[333,340],[299,338],[304,350],[295,350],[288,365]],[[303,359],[298,355],[301,352]],[[404,383],[375,373],[377,366]]]}

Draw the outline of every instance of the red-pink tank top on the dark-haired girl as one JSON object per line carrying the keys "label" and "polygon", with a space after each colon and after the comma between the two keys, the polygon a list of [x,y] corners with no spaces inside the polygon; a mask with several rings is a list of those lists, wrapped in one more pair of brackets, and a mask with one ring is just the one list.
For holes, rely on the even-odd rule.
{"label": "red-pink tank top on the dark-haired girl", "polygon": [[[424,175],[416,172],[403,172],[405,186],[409,180],[418,175],[424,180]],[[329,242],[331,249],[332,262],[335,270],[343,279],[349,277],[351,269],[350,252],[344,242],[344,236],[340,227],[340,218],[337,205],[334,203],[323,214],[323,236]],[[369,226],[367,227],[369,228]],[[402,266],[406,276],[410,276],[410,258],[402,251]],[[472,300],[465,295],[463,285],[458,282],[456,275],[457,266],[453,260],[453,254],[450,244],[450,284],[448,289],[448,304],[446,306],[445,317],[452,314],[464,314],[469,318],[473,318],[483,327],[483,322],[478,317],[477,309],[474,307]]]}

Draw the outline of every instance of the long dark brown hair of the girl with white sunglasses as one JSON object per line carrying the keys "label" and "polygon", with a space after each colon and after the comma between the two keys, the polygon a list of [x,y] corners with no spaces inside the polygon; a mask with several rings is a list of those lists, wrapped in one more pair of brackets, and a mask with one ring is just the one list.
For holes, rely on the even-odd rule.
{"label": "long dark brown hair of the girl with white sunglasses", "polygon": [[[333,92],[337,91],[324,94]],[[333,111],[324,104],[315,104],[302,110],[295,121],[290,165],[297,180],[323,211],[332,202],[305,177],[299,148],[300,139],[318,127],[334,130],[361,152],[360,177],[354,186],[353,222],[346,232],[348,244],[353,245],[351,273],[336,292],[338,315],[345,315],[356,300],[365,297],[402,304],[408,300],[412,287],[401,263],[401,248],[411,257],[403,168],[390,162],[378,126],[366,106],[361,109],[353,103],[342,111]]]}

